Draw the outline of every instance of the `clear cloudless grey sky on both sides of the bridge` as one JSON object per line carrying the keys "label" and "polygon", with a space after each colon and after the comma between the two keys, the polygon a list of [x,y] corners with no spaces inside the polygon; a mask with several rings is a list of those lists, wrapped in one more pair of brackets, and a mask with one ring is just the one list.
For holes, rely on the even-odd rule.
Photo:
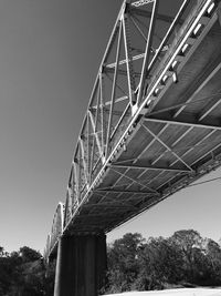
{"label": "clear cloudless grey sky on both sides of the bridge", "polygon": [[[0,245],[43,251],[120,0],[0,1]],[[213,173],[215,176],[221,172]],[[212,176],[208,176],[212,177]],[[187,188],[108,235],[221,237],[221,181]]]}

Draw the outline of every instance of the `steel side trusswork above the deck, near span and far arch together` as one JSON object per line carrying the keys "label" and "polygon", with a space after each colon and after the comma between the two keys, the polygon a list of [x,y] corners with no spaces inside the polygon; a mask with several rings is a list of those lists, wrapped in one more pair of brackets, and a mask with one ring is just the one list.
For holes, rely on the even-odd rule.
{"label": "steel side trusswork above the deck, near span and far arch together", "polygon": [[[214,7],[213,0],[183,0],[170,16],[165,16],[159,0],[124,1],[98,69],[76,143],[62,228],[57,226],[61,225],[61,218],[56,211],[50,249],[88,193],[98,185],[101,172],[106,170],[120,150],[126,149],[127,137],[133,132],[133,124],[136,125],[135,120],[139,120],[140,110],[155,104],[168,79],[172,76],[177,82],[177,64],[189,47],[188,43],[177,44],[180,42],[177,35],[188,34],[191,41],[201,30],[198,24],[192,28],[196,20],[191,10],[198,16],[196,8],[199,12],[203,8],[211,13]],[[192,38],[193,30],[196,35]],[[173,54],[170,49],[181,45],[176,60],[168,65]]]}

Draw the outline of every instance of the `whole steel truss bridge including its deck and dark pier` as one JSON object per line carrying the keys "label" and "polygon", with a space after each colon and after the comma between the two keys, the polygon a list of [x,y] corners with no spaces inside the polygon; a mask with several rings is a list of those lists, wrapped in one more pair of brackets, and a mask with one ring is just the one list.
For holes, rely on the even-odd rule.
{"label": "whole steel truss bridge including its deck and dark pier", "polygon": [[48,236],[55,296],[96,296],[105,234],[220,166],[220,81],[219,0],[123,2]]}

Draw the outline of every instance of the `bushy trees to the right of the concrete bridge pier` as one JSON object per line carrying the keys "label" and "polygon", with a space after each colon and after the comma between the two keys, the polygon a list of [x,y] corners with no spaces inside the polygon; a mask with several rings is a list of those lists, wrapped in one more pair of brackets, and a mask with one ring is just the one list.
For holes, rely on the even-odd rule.
{"label": "bushy trees to the right of the concrete bridge pier", "polygon": [[127,233],[108,246],[105,292],[221,286],[221,247],[193,229],[168,238]]}

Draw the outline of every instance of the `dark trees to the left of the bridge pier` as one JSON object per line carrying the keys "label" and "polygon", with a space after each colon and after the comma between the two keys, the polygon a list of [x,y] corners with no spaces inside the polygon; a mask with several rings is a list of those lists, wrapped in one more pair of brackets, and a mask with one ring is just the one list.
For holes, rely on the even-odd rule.
{"label": "dark trees to the left of the bridge pier", "polygon": [[45,268],[42,255],[30,248],[8,253],[0,247],[0,296],[52,296],[55,263]]}

